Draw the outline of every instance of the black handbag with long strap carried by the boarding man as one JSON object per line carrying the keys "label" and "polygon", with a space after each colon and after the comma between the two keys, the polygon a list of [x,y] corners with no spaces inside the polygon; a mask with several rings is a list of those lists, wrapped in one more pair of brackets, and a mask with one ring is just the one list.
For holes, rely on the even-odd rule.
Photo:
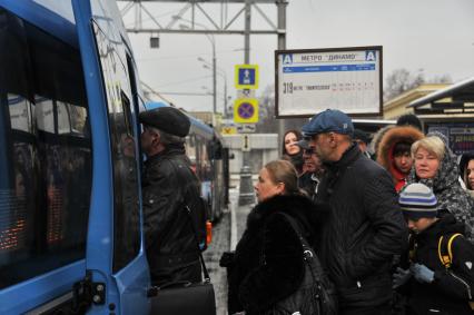
{"label": "black handbag with long strap carried by the boarding man", "polygon": [[[190,218],[190,209],[185,207]],[[204,282],[174,282],[162,286],[155,286],[148,291],[151,297],[151,313],[159,315],[216,315],[216,298],[214,286],[210,283],[209,273],[199,249],[196,228],[190,218],[192,232],[196,238],[196,246],[199,253],[199,260],[203,266]]]}

